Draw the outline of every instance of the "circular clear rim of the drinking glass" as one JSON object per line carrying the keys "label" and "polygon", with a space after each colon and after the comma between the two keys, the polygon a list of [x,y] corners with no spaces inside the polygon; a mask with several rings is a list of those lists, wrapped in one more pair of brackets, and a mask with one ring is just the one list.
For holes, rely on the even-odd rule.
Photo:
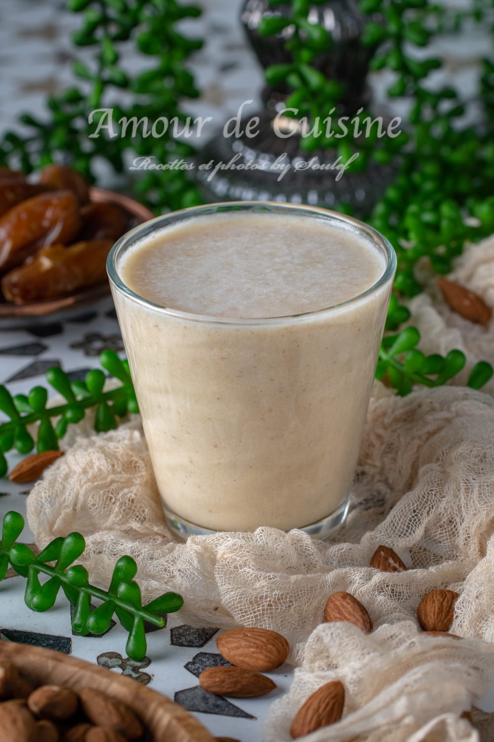
{"label": "circular clear rim of the drinking glass", "polygon": [[[162,306],[150,299],[141,296],[134,292],[127,286],[126,283],[121,279],[117,270],[117,259],[120,252],[126,247],[132,246],[136,240],[140,239],[145,234],[153,234],[158,229],[166,229],[167,226],[175,222],[181,222],[194,217],[200,217],[207,214],[216,214],[218,211],[224,213],[225,211],[292,211],[293,213],[300,212],[301,214],[314,214],[318,217],[323,217],[341,229],[346,229],[347,232],[357,232],[361,236],[371,239],[373,244],[381,248],[387,258],[386,266],[381,276],[376,280],[372,286],[365,289],[364,292],[351,297],[345,301],[341,301],[337,304],[324,307],[322,309],[312,309],[310,312],[299,312],[293,315],[281,315],[278,317],[255,317],[255,318],[230,318],[230,317],[218,317],[215,315],[197,315],[193,312],[183,312],[180,309],[172,309],[167,306]],[[156,227],[156,229],[154,229]],[[167,317],[178,318],[184,321],[200,322],[204,324],[226,324],[226,325],[238,325],[238,326],[252,326],[252,325],[267,325],[267,324],[280,324],[286,323],[287,321],[304,321],[307,318],[316,318],[318,315],[326,315],[330,312],[338,312],[341,309],[350,307],[353,304],[364,301],[368,296],[378,291],[381,286],[388,283],[389,280],[393,279],[396,271],[396,253],[387,237],[384,237],[381,232],[374,229],[370,225],[356,219],[355,217],[349,217],[347,214],[340,214],[338,211],[331,209],[324,209],[320,206],[308,206],[305,204],[296,203],[285,203],[278,201],[221,201],[215,203],[202,204],[201,206],[190,206],[187,209],[178,209],[177,211],[170,211],[169,214],[161,214],[161,216],[154,217],[147,222],[141,223],[138,226],[130,229],[116,241],[107,257],[107,274],[110,279],[110,285],[115,289],[122,292],[130,300],[140,303],[150,309],[155,310],[159,314]]]}

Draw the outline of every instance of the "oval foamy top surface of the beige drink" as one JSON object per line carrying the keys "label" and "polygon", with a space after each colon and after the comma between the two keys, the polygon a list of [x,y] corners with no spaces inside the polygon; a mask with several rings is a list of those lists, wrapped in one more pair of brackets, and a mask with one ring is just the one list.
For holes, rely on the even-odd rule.
{"label": "oval foamy top surface of the beige drink", "polygon": [[215,214],[136,243],[124,283],[196,315],[269,318],[326,309],[373,286],[385,257],[361,234],[313,215]]}

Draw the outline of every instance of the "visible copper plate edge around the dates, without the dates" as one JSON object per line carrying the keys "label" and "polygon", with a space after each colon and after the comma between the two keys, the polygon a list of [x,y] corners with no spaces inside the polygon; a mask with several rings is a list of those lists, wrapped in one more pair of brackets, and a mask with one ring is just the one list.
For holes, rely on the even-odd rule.
{"label": "visible copper plate edge around the dates, without the dates", "polygon": [[[90,200],[99,203],[114,203],[130,215],[129,229],[148,219],[152,219],[152,211],[142,206],[132,198],[122,196],[115,191],[106,191],[104,188],[90,188]],[[94,303],[110,296],[109,283],[100,283],[90,289],[76,292],[52,301],[39,301],[30,304],[0,303],[0,329],[15,329],[25,327],[34,322],[58,321],[70,318],[71,310],[79,310],[87,304]]]}

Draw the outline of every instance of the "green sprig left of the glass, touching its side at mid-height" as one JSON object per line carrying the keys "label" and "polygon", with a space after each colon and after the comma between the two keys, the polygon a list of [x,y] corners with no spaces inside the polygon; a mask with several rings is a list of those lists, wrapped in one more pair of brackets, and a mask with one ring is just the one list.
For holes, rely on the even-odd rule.
{"label": "green sprig left of the glass, touching its side at mid-height", "polygon": [[115,428],[118,418],[127,412],[138,412],[127,361],[121,361],[113,350],[104,350],[99,359],[104,370],[119,379],[121,385],[104,391],[107,375],[101,369],[87,372],[85,381],[70,381],[66,372],[52,368],[47,371],[47,381],[65,399],[56,407],[47,407],[48,390],[44,387],[34,387],[28,395],[13,396],[7,387],[0,386],[0,410],[9,418],[0,424],[0,476],[7,473],[4,453],[12,448],[19,453],[30,453],[35,447],[35,439],[28,430],[30,425],[38,426],[37,450],[56,450],[67,426],[80,422],[92,407],[96,407],[95,429],[99,432]]}

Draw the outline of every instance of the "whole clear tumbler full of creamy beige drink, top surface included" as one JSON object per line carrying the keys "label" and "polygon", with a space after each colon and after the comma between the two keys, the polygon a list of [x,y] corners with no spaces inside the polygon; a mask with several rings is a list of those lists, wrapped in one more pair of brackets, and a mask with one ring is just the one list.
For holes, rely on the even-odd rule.
{"label": "whole clear tumbler full of creamy beige drink, top surface included", "polygon": [[216,208],[160,217],[110,256],[165,510],[182,531],[334,526],[390,296],[389,246],[318,209]]}

